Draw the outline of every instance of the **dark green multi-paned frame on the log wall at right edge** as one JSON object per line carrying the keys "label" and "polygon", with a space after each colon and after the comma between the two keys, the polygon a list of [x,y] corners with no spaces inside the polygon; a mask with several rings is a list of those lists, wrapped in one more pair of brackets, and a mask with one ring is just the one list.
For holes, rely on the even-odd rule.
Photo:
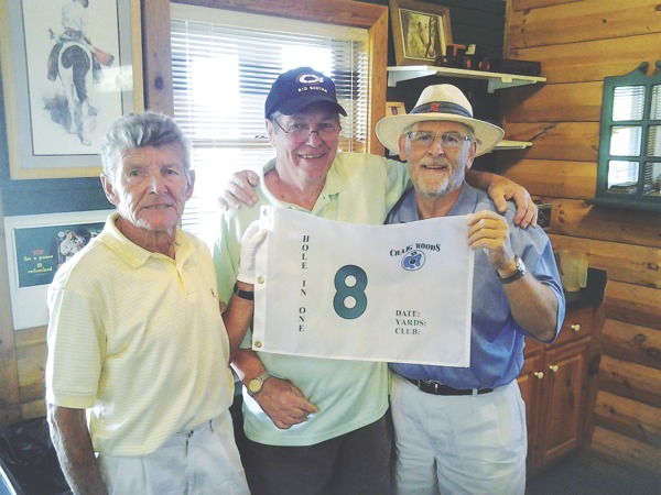
{"label": "dark green multi-paned frame on the log wall at right edge", "polygon": [[661,210],[661,77],[604,79],[595,202]]}

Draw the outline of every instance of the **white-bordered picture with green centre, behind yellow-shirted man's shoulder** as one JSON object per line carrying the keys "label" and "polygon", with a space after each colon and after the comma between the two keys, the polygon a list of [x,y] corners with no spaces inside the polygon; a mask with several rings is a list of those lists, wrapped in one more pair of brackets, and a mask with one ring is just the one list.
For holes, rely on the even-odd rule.
{"label": "white-bordered picture with green centre, behind yellow-shirted man's shoulder", "polygon": [[112,211],[4,218],[14,330],[47,323],[46,292],[55,273],[101,232]]}

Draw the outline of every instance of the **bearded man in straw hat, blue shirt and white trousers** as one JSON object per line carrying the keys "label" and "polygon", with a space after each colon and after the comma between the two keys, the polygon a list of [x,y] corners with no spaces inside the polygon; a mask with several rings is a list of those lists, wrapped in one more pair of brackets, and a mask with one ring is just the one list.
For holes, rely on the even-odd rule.
{"label": "bearded man in straw hat, blue shirt and white trousers", "polygon": [[379,121],[376,132],[408,162],[413,182],[387,223],[465,215],[476,250],[470,366],[390,364],[397,491],[523,494],[525,405],[517,376],[524,338],[553,341],[565,308],[549,238],[539,227],[517,228],[513,206],[500,215],[465,182],[474,158],[503,132],[474,119],[455,86],[425,88],[409,114]]}

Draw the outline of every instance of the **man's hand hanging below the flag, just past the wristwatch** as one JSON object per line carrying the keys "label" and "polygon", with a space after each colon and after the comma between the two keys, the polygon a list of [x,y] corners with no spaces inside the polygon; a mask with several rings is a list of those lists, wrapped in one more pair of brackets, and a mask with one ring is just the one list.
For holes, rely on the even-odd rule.
{"label": "man's hand hanging below the flag, just past the wristwatch", "polygon": [[273,424],[283,430],[307,421],[307,416],[317,413],[303,393],[286,380],[271,376],[254,395],[254,400],[271,418]]}

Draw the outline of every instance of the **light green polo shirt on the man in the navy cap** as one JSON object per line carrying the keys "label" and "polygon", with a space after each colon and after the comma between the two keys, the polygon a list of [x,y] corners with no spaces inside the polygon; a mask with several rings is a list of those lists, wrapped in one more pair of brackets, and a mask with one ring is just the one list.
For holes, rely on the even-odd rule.
{"label": "light green polo shirt on the man in the navy cap", "polygon": [[[214,262],[220,300],[231,296],[248,226],[259,218],[262,205],[307,211],[277,199],[266,187],[264,175],[275,166],[269,162],[261,174],[252,207],[228,210],[220,220]],[[394,161],[356,153],[338,153],[312,215],[361,224],[381,224],[409,183],[407,166]],[[277,262],[277,261],[274,261]],[[333,331],[332,328],[328,331]],[[245,346],[250,348],[251,334]],[[288,430],[277,428],[245,392],[243,421],[249,439],[270,446],[312,446],[370,425],[388,409],[388,370],[382,363],[324,360],[259,352],[269,373],[291,381],[319,411]]]}

